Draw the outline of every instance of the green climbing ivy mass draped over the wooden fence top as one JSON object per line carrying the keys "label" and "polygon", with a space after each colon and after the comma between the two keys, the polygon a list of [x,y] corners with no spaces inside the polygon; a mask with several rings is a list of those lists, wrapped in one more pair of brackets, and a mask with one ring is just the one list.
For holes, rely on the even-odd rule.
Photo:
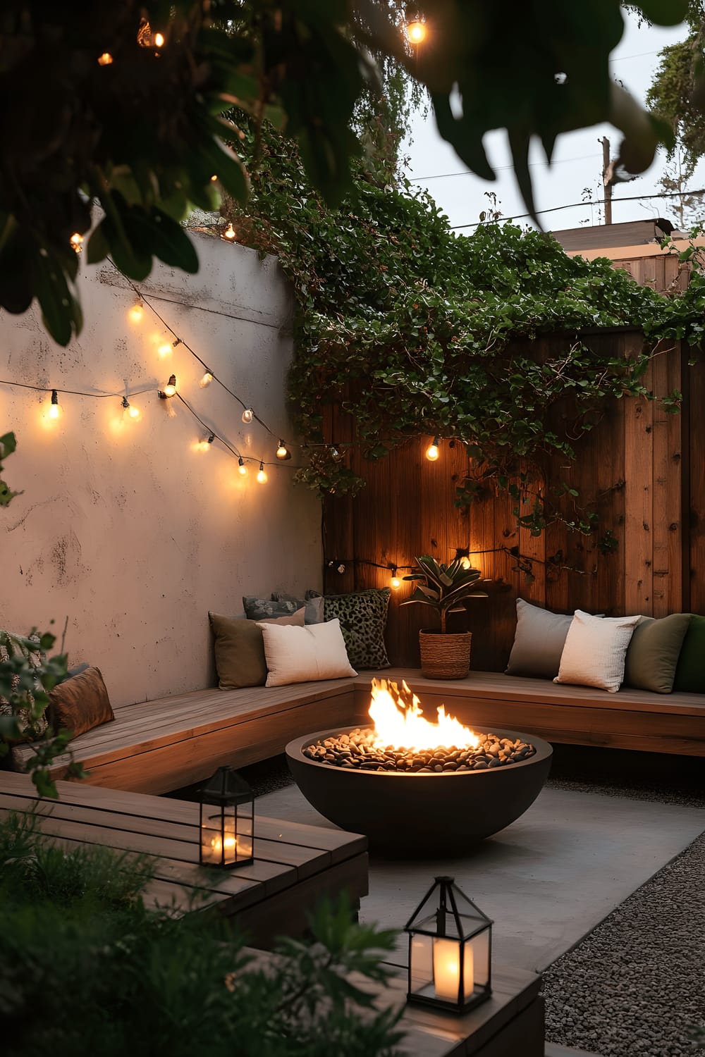
{"label": "green climbing ivy mass draped over the wooden fence top", "polygon": [[[246,154],[246,140],[243,148]],[[427,194],[403,180],[382,186],[365,163],[354,192],[330,209],[291,142],[268,131],[261,150],[246,215],[236,203],[227,215],[241,241],[278,255],[294,284],[289,393],[311,446],[298,477],[321,493],[364,485],[347,449],[323,435],[327,404],[350,412],[368,459],[438,434],[464,444],[472,460],[459,503],[487,482],[519,498],[520,461],[572,459],[606,401],[651,396],[644,374],[660,340],[700,344],[700,273],[687,292],[665,296],[606,259],[568,257],[535,230],[493,222],[457,236]],[[644,330],[643,350],[627,360],[580,336],[616,326]],[[564,340],[541,357],[532,341],[544,334]],[[671,393],[668,410],[678,411],[680,398]],[[540,507],[523,518],[541,531]],[[592,531],[593,520],[587,515],[574,527]]]}

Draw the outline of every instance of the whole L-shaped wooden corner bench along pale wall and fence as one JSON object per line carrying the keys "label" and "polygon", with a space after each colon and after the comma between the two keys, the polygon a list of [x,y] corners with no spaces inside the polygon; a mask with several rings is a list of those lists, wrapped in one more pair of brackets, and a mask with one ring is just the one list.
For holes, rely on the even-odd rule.
{"label": "whole L-shaped wooden corner bench along pale wall and fence", "polygon": [[[375,674],[405,679],[429,719],[445,704],[468,726],[504,727],[551,742],[705,756],[705,696],[607,693],[491,671],[433,680],[406,668],[293,686],[194,690],[124,705],[114,721],[75,738],[72,753],[92,785],[167,793],[202,781],[220,764],[241,767],[276,756],[304,734],[367,722]],[[32,745],[16,746],[15,768],[21,771],[33,754]],[[66,775],[69,761],[54,761],[55,779]]]}

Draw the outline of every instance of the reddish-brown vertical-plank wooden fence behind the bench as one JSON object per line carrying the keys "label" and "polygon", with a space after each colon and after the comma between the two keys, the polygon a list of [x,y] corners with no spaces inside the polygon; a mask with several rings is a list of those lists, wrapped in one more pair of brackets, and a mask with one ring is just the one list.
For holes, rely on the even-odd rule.
{"label": "reddish-brown vertical-plank wooden fence behind the bench", "polygon": [[[560,340],[544,339],[549,348]],[[583,340],[609,342],[627,356],[643,338],[624,329],[586,334]],[[537,355],[541,344],[536,342]],[[687,351],[676,345],[654,356],[645,384],[656,397],[681,390],[681,413],[668,413],[658,400],[611,401],[597,428],[581,440],[576,461],[554,459],[549,469],[546,494],[564,482],[581,500],[596,499],[599,525],[588,536],[560,521],[532,536],[518,527],[517,504],[503,493],[458,508],[456,486],[468,469],[460,444],[451,448],[443,442],[435,463],[424,457],[429,438],[378,462],[367,462],[351,448],[351,465],[368,484],[354,499],[326,500],[326,590],[389,585],[390,571],[368,562],[410,565],[420,554],[448,561],[457,548],[467,548],[491,581],[490,597],[472,600],[454,619],[474,633],[474,667],[487,670],[506,665],[517,596],[557,612],[705,612],[705,370],[688,367]],[[339,411],[329,429],[328,440],[353,437]],[[569,520],[577,501],[570,495],[556,500]],[[337,571],[340,565],[344,572]],[[392,664],[416,666],[418,630],[431,626],[433,614],[424,606],[401,607],[410,591],[408,582],[392,591],[387,642]]]}

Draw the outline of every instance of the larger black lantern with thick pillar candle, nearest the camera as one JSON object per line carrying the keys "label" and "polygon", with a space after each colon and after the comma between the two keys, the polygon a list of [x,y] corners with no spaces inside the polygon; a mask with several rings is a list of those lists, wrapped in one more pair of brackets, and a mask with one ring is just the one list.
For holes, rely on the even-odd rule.
{"label": "larger black lantern with thick pillar candle, nearest the camera", "polygon": [[407,1001],[467,1013],[489,998],[491,926],[452,877],[437,877],[405,925]]}

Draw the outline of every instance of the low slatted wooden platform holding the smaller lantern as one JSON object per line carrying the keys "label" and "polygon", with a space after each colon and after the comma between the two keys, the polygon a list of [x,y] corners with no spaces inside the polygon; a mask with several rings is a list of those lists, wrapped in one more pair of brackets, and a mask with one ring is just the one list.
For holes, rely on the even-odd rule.
{"label": "low slatted wooden platform holding the smaller lantern", "polygon": [[0,818],[35,815],[62,847],[99,845],[153,855],[148,906],[173,914],[210,910],[233,919],[255,946],[302,934],[321,896],[344,890],[356,907],[368,891],[367,837],[255,812],[255,861],[237,870],[199,866],[199,805],[185,800],[57,783],[59,799],[37,796],[29,775],[0,774]]}

